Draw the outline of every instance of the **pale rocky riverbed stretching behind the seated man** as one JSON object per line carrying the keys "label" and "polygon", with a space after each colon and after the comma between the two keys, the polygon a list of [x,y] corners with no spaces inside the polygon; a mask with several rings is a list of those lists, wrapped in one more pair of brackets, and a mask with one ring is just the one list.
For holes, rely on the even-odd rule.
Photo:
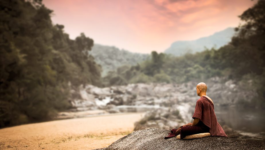
{"label": "pale rocky riverbed stretching behind the seated man", "polygon": [[[207,95],[215,108],[235,108],[243,101],[250,101],[256,92],[245,89],[225,78],[211,78],[206,82]],[[251,84],[251,81],[248,82]],[[135,123],[135,131],[147,128],[177,129],[192,122],[192,115],[198,96],[196,81],[183,84],[128,84],[98,88],[93,85],[72,90],[71,104],[73,109],[60,112],[56,119],[81,118],[92,115],[104,115],[124,112],[146,112],[145,117]],[[225,94],[224,94],[225,93]],[[217,114],[218,117],[218,114]],[[219,123],[229,137],[242,134],[234,131],[222,118]]]}

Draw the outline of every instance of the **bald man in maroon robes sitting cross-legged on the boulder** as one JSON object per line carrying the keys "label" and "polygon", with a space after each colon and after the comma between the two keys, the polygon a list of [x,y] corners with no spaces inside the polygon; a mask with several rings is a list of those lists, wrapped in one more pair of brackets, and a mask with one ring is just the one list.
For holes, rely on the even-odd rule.
{"label": "bald man in maroon robes sitting cross-legged on the boulder", "polygon": [[200,82],[196,86],[197,95],[200,99],[197,100],[192,125],[182,127],[180,130],[180,139],[187,135],[198,133],[211,133],[211,136],[227,137],[221,125],[217,122],[214,111],[213,100],[206,95],[207,86]]}

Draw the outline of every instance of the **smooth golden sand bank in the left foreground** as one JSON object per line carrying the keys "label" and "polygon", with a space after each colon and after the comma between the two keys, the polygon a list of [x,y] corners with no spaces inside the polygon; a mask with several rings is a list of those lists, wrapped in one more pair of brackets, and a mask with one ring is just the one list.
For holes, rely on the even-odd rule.
{"label": "smooth golden sand bank in the left foreground", "polygon": [[122,113],[0,129],[0,149],[97,149],[133,132],[144,113]]}

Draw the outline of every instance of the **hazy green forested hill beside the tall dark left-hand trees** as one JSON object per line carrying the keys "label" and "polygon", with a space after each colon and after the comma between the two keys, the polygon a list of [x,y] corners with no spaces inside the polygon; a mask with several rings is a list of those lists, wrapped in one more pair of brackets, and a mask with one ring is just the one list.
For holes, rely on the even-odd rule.
{"label": "hazy green forested hill beside the tall dark left-hand trees", "polygon": [[108,71],[116,70],[122,65],[136,65],[150,56],[149,54],[132,53],[127,50],[120,50],[114,46],[103,46],[94,44],[89,52],[97,64],[102,66],[102,77],[106,76]]}

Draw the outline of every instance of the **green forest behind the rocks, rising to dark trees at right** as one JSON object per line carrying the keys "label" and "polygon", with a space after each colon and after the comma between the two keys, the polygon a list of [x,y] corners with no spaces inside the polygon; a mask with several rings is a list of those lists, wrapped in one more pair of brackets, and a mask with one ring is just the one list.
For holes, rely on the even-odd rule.
{"label": "green forest behind the rocks, rising to dark trees at right", "polygon": [[235,28],[237,34],[229,44],[196,54],[174,57],[153,51],[151,60],[135,66],[121,66],[104,77],[106,85],[124,85],[138,82],[183,83],[226,76],[243,82],[258,97],[243,107],[265,108],[265,1],[259,0],[240,16],[243,25]]}

